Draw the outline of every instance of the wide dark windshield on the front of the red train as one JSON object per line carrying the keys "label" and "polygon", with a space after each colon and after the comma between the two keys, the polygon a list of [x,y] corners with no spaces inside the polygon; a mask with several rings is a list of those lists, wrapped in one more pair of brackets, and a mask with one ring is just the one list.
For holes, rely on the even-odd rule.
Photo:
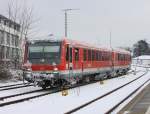
{"label": "wide dark windshield on the front of the red train", "polygon": [[60,42],[38,42],[29,45],[28,59],[33,64],[59,64]]}

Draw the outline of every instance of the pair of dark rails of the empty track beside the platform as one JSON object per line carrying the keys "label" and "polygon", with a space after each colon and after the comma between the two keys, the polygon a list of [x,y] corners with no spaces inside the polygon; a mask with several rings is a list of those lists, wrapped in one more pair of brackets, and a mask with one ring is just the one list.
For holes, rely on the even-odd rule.
{"label": "pair of dark rails of the empty track beside the platform", "polygon": [[[105,94],[103,94],[103,95],[101,95],[101,96],[99,96],[99,97],[93,99],[93,100],[90,100],[90,101],[88,101],[88,102],[86,102],[86,103],[84,103],[84,104],[82,104],[82,105],[80,105],[80,106],[78,106],[78,107],[76,107],[76,108],[74,108],[74,109],[72,109],[72,110],[69,110],[69,111],[65,112],[64,114],[75,113],[75,112],[77,112],[77,111],[79,111],[79,110],[81,110],[81,109],[83,109],[83,108],[89,106],[90,104],[92,104],[92,103],[94,103],[94,102],[96,102],[96,101],[98,101],[98,100],[100,100],[100,99],[103,99],[104,97],[106,97],[106,96],[108,96],[108,95],[110,95],[110,94],[112,94],[112,93],[114,93],[114,92],[116,92],[116,91],[122,89],[123,87],[125,87],[125,86],[127,86],[127,85],[129,85],[129,84],[131,84],[131,83],[133,83],[133,82],[135,82],[136,80],[142,78],[142,77],[145,76],[146,74],[147,74],[147,72],[145,72],[145,73],[142,74],[141,76],[137,77],[136,79],[134,79],[134,80],[132,80],[132,81],[130,81],[130,82],[128,82],[128,83],[125,83],[124,85],[122,85],[122,86],[120,86],[120,87],[117,87],[117,88],[115,88],[115,89],[113,89],[113,90],[111,90],[111,91],[109,91],[109,92],[107,92],[107,93],[105,93]],[[147,83],[148,81],[150,81],[150,79],[148,79],[147,81],[145,81],[140,87],[138,87],[138,88],[137,88],[136,90],[134,90],[130,95],[128,95],[125,99],[123,99],[123,100],[120,101],[118,104],[116,104],[114,107],[112,107],[110,110],[108,110],[105,114],[110,114],[110,113],[111,113],[113,110],[115,110],[121,103],[123,103],[126,99],[128,99],[131,95],[133,95],[133,94],[134,94],[135,92],[137,92],[141,87],[143,87],[143,85],[144,85],[145,83]]]}

